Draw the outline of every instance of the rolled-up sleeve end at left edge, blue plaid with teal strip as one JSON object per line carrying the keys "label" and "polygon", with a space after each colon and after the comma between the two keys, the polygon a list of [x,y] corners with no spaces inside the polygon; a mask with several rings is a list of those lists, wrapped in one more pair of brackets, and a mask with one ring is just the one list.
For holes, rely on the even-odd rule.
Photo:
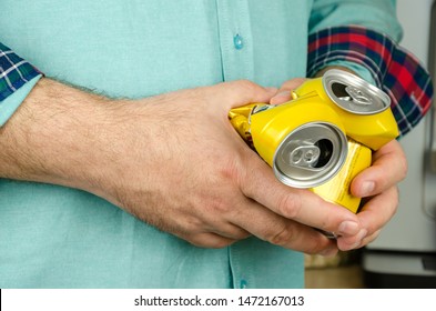
{"label": "rolled-up sleeve end at left edge, blue plaid with teal strip", "polygon": [[11,49],[0,43],[0,127],[2,127],[42,73]]}

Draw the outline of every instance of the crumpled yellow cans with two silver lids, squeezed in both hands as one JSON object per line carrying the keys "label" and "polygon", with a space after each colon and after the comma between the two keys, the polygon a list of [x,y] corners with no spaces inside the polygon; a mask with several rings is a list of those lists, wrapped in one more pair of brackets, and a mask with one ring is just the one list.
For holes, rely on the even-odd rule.
{"label": "crumpled yellow cans with two silver lids, squeezed in both hands", "polygon": [[373,150],[399,134],[389,98],[341,70],[306,80],[292,96],[234,108],[230,121],[280,181],[357,212],[351,181],[371,165]]}

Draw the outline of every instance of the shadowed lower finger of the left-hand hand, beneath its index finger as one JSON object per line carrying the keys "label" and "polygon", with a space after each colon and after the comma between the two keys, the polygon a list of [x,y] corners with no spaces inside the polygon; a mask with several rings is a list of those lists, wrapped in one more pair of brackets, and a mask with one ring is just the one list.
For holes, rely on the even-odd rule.
{"label": "shadowed lower finger of the left-hand hand, beneath its index finger", "polygon": [[247,202],[232,215],[232,222],[253,235],[305,253],[331,255],[337,252],[336,243],[313,228],[285,219],[252,200]]}

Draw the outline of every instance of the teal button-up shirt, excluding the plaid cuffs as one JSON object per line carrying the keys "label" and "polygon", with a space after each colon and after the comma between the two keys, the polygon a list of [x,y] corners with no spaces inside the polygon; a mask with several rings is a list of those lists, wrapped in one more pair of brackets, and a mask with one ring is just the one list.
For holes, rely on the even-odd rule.
{"label": "teal button-up shirt, excluding the plaid cuffs", "polygon": [[[236,79],[278,87],[305,77],[310,32],[357,23],[399,38],[394,2],[2,0],[0,42],[110,97]],[[304,287],[302,253],[256,238],[196,248],[90,193],[4,179],[0,250],[0,288]]]}

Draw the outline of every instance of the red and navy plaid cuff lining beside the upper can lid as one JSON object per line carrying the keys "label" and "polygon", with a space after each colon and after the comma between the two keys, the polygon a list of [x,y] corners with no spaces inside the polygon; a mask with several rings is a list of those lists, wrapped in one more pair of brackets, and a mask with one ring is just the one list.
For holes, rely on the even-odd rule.
{"label": "red and navy plaid cuff lining beside the upper can lid", "polygon": [[313,77],[333,61],[355,62],[371,72],[377,87],[391,97],[402,136],[412,130],[432,106],[429,73],[416,57],[379,32],[352,26],[311,34],[307,76]]}

